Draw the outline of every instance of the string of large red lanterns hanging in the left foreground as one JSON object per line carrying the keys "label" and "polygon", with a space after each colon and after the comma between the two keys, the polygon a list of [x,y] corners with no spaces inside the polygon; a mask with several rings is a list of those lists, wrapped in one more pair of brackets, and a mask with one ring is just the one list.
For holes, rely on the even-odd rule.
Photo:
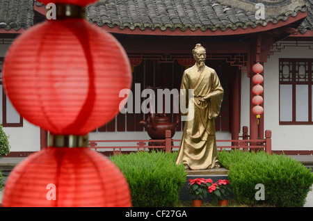
{"label": "string of large red lanterns hanging in the left foreground", "polygon": [[50,131],[50,143],[10,172],[2,206],[131,206],[118,167],[87,147],[87,134],[118,113],[119,92],[131,86],[127,55],[83,17],[81,6],[93,1],[49,2],[64,14],[13,42],[3,85],[22,117]]}

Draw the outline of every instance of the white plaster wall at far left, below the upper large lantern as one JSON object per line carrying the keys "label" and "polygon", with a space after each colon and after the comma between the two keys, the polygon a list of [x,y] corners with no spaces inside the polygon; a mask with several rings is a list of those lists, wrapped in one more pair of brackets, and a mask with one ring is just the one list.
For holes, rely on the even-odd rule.
{"label": "white plaster wall at far left, below the upper large lantern", "polygon": [[[0,56],[6,56],[10,44],[0,44]],[[35,152],[40,150],[40,128],[26,120],[22,127],[3,127],[9,136],[10,152]]]}

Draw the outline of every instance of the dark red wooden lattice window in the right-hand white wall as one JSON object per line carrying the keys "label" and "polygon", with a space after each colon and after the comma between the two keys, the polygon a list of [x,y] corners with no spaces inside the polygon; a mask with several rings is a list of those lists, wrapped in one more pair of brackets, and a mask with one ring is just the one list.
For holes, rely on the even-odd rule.
{"label": "dark red wooden lattice window in the right-hand white wall", "polygon": [[280,58],[280,124],[313,124],[312,58]]}

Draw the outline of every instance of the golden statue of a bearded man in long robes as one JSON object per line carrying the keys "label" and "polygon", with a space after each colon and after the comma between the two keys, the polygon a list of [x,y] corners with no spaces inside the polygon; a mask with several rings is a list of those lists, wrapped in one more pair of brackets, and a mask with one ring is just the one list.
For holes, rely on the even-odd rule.
{"label": "golden statue of a bearded man in long robes", "polygon": [[184,71],[181,89],[186,91],[186,105],[188,89],[193,89],[194,115],[185,122],[176,163],[184,163],[186,170],[207,170],[220,167],[214,119],[220,113],[224,90],[215,70],[204,64],[207,54],[201,44],[195,45],[193,58],[195,65]]}

